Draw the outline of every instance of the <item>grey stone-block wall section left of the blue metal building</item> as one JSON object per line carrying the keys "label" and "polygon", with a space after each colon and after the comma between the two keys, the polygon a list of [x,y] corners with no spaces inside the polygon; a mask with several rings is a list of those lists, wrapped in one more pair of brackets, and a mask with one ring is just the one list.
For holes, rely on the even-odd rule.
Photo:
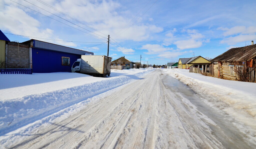
{"label": "grey stone-block wall section left of the blue metal building", "polygon": [[29,68],[29,45],[9,42],[7,68]]}

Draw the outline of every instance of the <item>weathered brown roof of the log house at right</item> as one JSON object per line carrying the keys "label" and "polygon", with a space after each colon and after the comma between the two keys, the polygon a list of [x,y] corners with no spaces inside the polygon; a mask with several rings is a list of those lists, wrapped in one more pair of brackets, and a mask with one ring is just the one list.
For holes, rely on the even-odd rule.
{"label": "weathered brown roof of the log house at right", "polygon": [[243,61],[253,59],[255,56],[256,44],[253,44],[244,47],[231,48],[211,61]]}

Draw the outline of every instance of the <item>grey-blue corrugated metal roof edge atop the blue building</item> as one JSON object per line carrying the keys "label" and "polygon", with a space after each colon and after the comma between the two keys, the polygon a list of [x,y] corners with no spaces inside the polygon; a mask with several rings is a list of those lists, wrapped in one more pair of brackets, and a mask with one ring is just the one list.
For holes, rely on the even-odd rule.
{"label": "grey-blue corrugated metal roof edge atop the blue building", "polygon": [[44,41],[39,41],[39,40],[34,40],[34,39],[25,41],[23,43],[29,43],[31,41],[33,41],[34,48],[47,49],[47,50],[52,50],[52,51],[59,51],[59,52],[79,54],[79,55],[84,55],[86,53],[93,55],[93,52],[83,51],[83,50],[79,50],[79,49],[75,49],[75,48],[70,48],[70,47],[57,45],[57,44],[53,44],[53,43],[48,43],[48,42],[44,42]]}

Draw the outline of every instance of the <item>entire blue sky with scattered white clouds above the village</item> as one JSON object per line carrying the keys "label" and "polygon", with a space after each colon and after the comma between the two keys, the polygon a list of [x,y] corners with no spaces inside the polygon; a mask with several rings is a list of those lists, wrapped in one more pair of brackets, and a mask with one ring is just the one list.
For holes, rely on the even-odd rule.
{"label": "entire blue sky with scattered white clouds above the village", "polygon": [[37,39],[94,55],[107,55],[110,35],[112,60],[163,65],[255,43],[255,8],[255,0],[1,0],[0,30],[10,41]]}

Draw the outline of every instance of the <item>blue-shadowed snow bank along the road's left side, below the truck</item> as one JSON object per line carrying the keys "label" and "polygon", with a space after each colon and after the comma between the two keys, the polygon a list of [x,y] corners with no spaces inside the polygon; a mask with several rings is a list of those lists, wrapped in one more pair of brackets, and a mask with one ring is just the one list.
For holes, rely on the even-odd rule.
{"label": "blue-shadowed snow bank along the road's left side, below the truck", "polygon": [[111,70],[108,78],[69,72],[1,74],[0,135],[132,80],[141,79],[153,70]]}

